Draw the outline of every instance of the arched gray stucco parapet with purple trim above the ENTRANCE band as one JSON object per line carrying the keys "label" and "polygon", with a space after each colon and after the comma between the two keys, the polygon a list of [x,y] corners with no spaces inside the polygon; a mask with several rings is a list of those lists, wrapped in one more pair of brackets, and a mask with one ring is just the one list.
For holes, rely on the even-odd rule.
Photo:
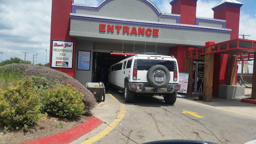
{"label": "arched gray stucco parapet with purple trim above the ENTRANCE band", "polygon": [[[76,8],[77,14],[106,16],[133,20],[159,21],[156,11],[141,0],[111,0],[100,10]],[[160,21],[176,23],[176,19],[162,17]]]}

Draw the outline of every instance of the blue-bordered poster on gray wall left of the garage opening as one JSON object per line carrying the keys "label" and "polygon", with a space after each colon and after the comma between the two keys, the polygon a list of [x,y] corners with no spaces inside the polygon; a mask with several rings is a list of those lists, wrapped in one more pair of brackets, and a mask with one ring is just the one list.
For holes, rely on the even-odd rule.
{"label": "blue-bordered poster on gray wall left of the garage opening", "polygon": [[91,52],[78,51],[77,70],[90,70]]}

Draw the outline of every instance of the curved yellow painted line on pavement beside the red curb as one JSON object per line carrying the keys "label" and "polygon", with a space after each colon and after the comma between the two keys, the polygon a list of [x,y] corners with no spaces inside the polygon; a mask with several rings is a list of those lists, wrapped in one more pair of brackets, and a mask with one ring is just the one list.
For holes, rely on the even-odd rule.
{"label": "curved yellow painted line on pavement beside the red curb", "polygon": [[[110,95],[113,99],[117,100],[112,94],[108,93],[108,95]],[[91,144],[91,143],[93,143],[93,142],[95,142],[97,140],[100,140],[105,135],[107,135],[109,132],[111,132],[117,126],[117,124],[120,123],[120,121],[124,117],[124,114],[125,114],[125,111],[126,111],[125,105],[123,103],[121,103],[120,107],[121,107],[121,111],[120,111],[119,115],[117,116],[117,118],[105,130],[103,130],[102,132],[100,132],[96,136],[92,137],[91,139],[85,140],[81,144]]]}

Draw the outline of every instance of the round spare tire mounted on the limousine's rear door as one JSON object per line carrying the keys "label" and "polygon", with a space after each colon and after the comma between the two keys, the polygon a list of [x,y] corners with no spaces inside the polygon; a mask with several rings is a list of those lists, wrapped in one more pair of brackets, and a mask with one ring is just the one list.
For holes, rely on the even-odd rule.
{"label": "round spare tire mounted on the limousine's rear door", "polygon": [[163,65],[154,65],[148,69],[147,81],[148,84],[155,88],[162,88],[170,81],[171,75]]}

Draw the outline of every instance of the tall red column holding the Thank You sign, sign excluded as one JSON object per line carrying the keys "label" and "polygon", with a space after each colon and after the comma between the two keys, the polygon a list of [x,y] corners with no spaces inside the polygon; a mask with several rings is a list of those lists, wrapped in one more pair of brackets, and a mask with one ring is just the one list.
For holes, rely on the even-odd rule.
{"label": "tall red column holding the Thank You sign, sign excluded", "polygon": [[74,78],[76,58],[76,38],[69,36],[72,0],[52,0],[52,19],[50,36],[50,67],[52,64],[52,40],[73,41],[73,68],[53,68]]}

